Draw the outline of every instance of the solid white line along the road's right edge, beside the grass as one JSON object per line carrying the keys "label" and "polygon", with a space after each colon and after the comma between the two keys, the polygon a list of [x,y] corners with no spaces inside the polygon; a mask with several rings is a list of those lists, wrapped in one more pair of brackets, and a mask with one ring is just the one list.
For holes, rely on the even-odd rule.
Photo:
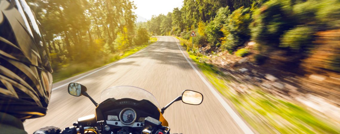
{"label": "solid white line along the road's right edge, beside the grass", "polygon": [[254,134],[253,131],[244,123],[244,121],[235,113],[235,111],[228,105],[227,102],[225,102],[223,100],[223,98],[219,95],[219,93],[216,92],[216,90],[211,87],[211,85],[208,83],[208,81],[206,81],[204,79],[204,77],[201,75],[200,72],[198,72],[198,70],[191,64],[191,62],[188,60],[188,58],[185,56],[185,54],[183,53],[179,43],[177,42],[176,38],[173,37],[178,45],[178,48],[181,50],[184,58],[188,61],[188,63],[190,64],[191,68],[196,72],[196,74],[201,78],[201,80],[205,83],[205,85],[207,85],[207,87],[209,88],[209,90],[211,91],[212,94],[215,95],[215,97],[220,101],[220,103],[222,104],[222,106],[224,107],[224,109],[228,112],[228,114],[235,120],[235,122],[237,123],[237,125],[242,129],[242,131],[245,134]]}

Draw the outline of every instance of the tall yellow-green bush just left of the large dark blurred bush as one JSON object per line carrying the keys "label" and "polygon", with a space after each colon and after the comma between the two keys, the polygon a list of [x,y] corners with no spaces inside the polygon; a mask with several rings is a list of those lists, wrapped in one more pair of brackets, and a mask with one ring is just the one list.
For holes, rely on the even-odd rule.
{"label": "tall yellow-green bush just left of the large dark blurred bush", "polygon": [[235,50],[250,39],[249,23],[251,22],[251,15],[249,8],[236,9],[228,16],[226,22],[221,29],[224,34],[222,47],[227,50]]}

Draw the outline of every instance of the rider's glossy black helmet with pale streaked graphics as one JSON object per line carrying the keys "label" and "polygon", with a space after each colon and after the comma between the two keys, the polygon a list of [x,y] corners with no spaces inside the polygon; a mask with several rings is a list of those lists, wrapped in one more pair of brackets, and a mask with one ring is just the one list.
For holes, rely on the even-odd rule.
{"label": "rider's glossy black helmet with pale streaked graphics", "polygon": [[24,120],[46,114],[51,60],[30,7],[0,0],[0,112]]}

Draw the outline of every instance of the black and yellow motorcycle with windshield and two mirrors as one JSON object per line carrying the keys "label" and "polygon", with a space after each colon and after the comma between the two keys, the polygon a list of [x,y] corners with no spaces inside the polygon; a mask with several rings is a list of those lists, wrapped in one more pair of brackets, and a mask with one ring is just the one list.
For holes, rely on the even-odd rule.
{"label": "black and yellow motorcycle with windshield and two mirrors", "polygon": [[86,91],[80,83],[68,85],[68,93],[88,97],[96,106],[96,113],[79,118],[61,134],[170,134],[164,111],[176,101],[193,105],[203,101],[201,93],[184,90],[181,96],[160,108],[150,92],[133,86],[117,86],[104,90],[98,104]]}

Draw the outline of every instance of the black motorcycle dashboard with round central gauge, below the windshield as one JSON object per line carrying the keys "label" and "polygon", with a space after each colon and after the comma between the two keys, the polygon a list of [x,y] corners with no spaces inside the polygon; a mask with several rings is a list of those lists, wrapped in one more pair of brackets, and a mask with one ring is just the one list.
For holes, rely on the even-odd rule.
{"label": "black motorcycle dashboard with round central gauge, below the windshield", "polygon": [[111,129],[122,127],[143,129],[146,117],[155,119],[160,117],[159,110],[150,101],[129,98],[106,100],[97,107],[96,112],[97,119],[106,120]]}

